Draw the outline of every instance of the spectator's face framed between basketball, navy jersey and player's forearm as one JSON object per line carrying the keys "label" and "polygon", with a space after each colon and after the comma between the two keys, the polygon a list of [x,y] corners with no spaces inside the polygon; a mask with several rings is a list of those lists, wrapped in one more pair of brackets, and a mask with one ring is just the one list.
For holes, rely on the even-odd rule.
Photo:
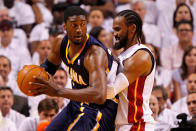
{"label": "spectator's face framed between basketball, navy jersey and player's forearm", "polygon": [[59,88],[65,88],[67,84],[67,75],[64,71],[57,70],[53,78],[54,78],[54,82],[57,84]]}

